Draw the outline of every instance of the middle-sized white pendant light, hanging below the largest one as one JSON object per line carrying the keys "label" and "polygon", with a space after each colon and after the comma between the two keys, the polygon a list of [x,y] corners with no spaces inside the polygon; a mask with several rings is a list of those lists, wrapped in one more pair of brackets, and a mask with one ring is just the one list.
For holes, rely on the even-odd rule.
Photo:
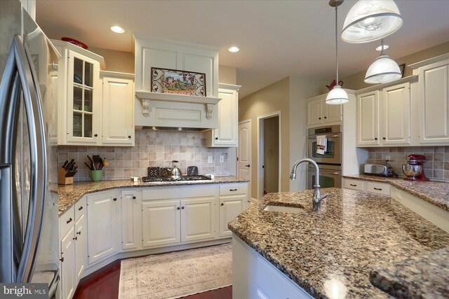
{"label": "middle-sized white pendant light, hanging below the largest one", "polygon": [[401,77],[402,73],[398,64],[384,54],[384,39],[382,39],[382,52],[366,71],[365,83],[387,83]]}

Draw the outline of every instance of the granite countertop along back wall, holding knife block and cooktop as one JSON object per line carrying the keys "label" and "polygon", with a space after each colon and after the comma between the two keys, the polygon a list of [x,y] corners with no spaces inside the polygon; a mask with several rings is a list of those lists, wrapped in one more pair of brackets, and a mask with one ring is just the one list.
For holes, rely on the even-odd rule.
{"label": "granite countertop along back wall, holding knife block and cooktop", "polygon": [[73,185],[59,185],[59,214],[63,214],[70,209],[75,202],[81,199],[87,193],[111,190],[116,188],[136,188],[136,187],[161,187],[161,186],[180,186],[180,185],[203,185],[210,183],[243,183],[248,180],[237,179],[236,176],[215,176],[213,181],[169,181],[156,183],[133,182],[131,180],[116,181],[88,181],[74,183]]}

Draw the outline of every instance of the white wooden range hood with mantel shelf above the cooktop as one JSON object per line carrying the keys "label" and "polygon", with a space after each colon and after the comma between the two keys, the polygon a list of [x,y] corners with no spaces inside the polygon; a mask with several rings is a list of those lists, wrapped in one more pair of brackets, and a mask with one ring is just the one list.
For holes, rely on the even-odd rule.
{"label": "white wooden range hood with mantel shelf above the cooktop", "polygon": [[[135,125],[217,128],[218,50],[135,35]],[[166,71],[174,70],[204,74],[205,79],[192,77],[194,95],[164,92]]]}

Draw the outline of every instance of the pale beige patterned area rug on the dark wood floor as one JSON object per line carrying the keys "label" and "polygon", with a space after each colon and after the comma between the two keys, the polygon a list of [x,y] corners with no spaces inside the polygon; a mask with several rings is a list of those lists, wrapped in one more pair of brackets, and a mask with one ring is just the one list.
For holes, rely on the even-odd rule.
{"label": "pale beige patterned area rug on the dark wood floor", "polygon": [[232,244],[121,261],[119,299],[180,298],[232,285]]}

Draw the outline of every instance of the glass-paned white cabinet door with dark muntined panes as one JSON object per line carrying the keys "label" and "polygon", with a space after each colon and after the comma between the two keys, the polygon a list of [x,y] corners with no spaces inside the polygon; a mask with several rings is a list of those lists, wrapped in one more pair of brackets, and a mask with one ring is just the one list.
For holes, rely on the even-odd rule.
{"label": "glass-paned white cabinet door with dark muntined panes", "polygon": [[67,142],[98,143],[100,63],[69,51]]}

